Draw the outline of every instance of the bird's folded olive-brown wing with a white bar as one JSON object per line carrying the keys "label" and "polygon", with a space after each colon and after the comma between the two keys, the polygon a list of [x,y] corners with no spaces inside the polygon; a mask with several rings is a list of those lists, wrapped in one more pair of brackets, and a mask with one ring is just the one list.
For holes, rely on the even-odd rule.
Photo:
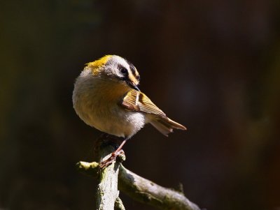
{"label": "bird's folded olive-brown wing with a white bar", "polygon": [[162,112],[144,93],[132,89],[129,91],[120,103],[127,110],[134,112],[145,112],[148,114],[156,114],[160,117],[166,117]]}

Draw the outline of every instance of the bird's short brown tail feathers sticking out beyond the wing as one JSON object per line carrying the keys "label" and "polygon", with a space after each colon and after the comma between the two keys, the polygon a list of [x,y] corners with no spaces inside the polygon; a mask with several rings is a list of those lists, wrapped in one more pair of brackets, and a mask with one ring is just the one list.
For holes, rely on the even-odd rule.
{"label": "bird's short brown tail feathers sticking out beyond the wing", "polygon": [[168,117],[159,117],[157,119],[154,119],[151,121],[151,124],[157,128],[160,133],[163,135],[168,136],[169,133],[173,132],[173,129],[181,129],[181,130],[187,130],[185,126],[182,126],[179,123],[176,123],[176,121],[173,121],[172,119],[169,119]]}

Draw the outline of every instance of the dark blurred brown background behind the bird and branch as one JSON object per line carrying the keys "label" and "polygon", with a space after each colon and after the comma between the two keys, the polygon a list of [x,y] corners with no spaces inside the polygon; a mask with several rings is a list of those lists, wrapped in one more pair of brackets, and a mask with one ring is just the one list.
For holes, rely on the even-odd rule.
{"label": "dark blurred brown background behind the bird and branch", "polygon": [[[118,54],[188,127],[146,126],[129,170],[206,209],[280,208],[279,1],[1,1],[0,209],[94,209],[76,171],[100,132],[73,110],[85,63]],[[127,209],[153,209],[120,194]]]}

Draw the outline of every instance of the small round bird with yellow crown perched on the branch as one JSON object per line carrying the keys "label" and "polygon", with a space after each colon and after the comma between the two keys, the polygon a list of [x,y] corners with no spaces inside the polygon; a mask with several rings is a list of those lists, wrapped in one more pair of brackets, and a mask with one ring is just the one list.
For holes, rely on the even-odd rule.
{"label": "small round bird with yellow crown perched on the branch", "polygon": [[73,107],[80,119],[104,133],[123,137],[120,147],[100,163],[100,167],[111,164],[123,144],[146,123],[166,136],[174,128],[186,130],[139,90],[139,80],[140,75],[132,63],[117,55],[106,55],[87,63],[76,79]]}

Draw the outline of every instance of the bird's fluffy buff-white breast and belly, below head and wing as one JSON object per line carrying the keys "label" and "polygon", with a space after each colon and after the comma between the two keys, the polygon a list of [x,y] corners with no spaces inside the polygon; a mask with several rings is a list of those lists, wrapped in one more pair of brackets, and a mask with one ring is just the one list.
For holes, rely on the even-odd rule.
{"label": "bird's fluffy buff-white breast and belly, below head and wing", "polygon": [[118,105],[129,90],[116,81],[94,77],[86,69],[76,80],[73,107],[88,125],[111,135],[130,138],[144,127],[145,115]]}

